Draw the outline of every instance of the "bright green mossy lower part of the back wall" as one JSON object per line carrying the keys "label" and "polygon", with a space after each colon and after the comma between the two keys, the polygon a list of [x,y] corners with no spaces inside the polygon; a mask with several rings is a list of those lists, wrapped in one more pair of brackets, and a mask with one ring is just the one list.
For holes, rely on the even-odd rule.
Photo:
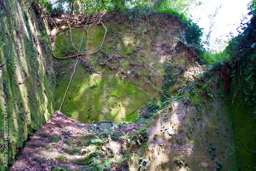
{"label": "bright green mossy lower part of the back wall", "polygon": [[[77,66],[61,108],[63,113],[74,119],[83,122],[135,120],[137,110],[152,97],[145,92],[145,88],[134,86],[130,80],[117,78],[115,71],[106,71],[102,76],[90,73],[81,75],[79,72],[83,70]],[[64,82],[59,80],[59,84]],[[58,88],[57,91],[59,107],[66,89]]]}

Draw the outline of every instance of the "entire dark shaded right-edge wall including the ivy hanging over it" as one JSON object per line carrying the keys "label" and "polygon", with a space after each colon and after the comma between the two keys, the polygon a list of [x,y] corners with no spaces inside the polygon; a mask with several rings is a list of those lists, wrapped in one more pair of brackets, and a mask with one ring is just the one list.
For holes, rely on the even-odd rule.
{"label": "entire dark shaded right-edge wall including the ivy hanging over it", "polygon": [[249,22],[230,40],[225,50],[230,63],[230,116],[234,129],[238,168],[255,169],[256,161],[256,1],[249,5]]}

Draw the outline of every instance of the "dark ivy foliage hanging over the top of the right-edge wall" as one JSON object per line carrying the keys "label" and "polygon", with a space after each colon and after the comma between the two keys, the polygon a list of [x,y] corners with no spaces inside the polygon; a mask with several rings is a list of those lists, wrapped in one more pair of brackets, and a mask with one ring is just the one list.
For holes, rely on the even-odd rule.
{"label": "dark ivy foliage hanging over the top of the right-edge wall", "polygon": [[[232,84],[237,86],[236,96],[241,103],[249,102],[256,106],[256,1],[249,5],[250,22],[241,23],[244,30],[239,36],[232,38],[226,48],[232,64]],[[247,26],[247,27],[246,27]],[[256,113],[256,108],[254,110]],[[256,118],[256,115],[255,115]]]}

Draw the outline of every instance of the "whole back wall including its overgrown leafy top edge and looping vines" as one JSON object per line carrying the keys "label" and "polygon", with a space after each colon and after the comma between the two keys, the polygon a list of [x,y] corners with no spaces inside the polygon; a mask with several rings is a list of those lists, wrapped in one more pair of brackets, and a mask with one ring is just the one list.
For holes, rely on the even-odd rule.
{"label": "whole back wall including its overgrown leafy top edge and looping vines", "polygon": [[[137,119],[139,109],[147,102],[160,99],[164,61],[168,54],[179,51],[174,49],[179,39],[198,43],[201,34],[199,28],[179,15],[148,9],[63,15],[54,20],[58,28],[53,30],[57,33],[54,44],[54,54],[58,57],[55,60],[57,106],[62,104],[63,113],[84,122]],[[70,22],[66,23],[67,20]],[[99,20],[102,24],[97,25]],[[182,48],[182,44],[179,46]],[[179,52],[176,57],[175,71],[181,71],[176,77],[189,67],[187,58],[202,62],[196,55],[196,47],[184,46],[186,52]],[[69,84],[75,67],[63,100],[67,90],[63,85]],[[181,78],[179,81],[183,82]],[[173,90],[177,87],[178,84]]]}

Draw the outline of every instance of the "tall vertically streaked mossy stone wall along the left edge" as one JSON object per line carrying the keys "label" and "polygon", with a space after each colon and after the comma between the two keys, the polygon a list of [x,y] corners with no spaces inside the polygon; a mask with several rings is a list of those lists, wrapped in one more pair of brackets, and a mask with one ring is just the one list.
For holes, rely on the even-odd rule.
{"label": "tall vertically streaked mossy stone wall along the left edge", "polygon": [[34,3],[0,4],[0,170],[53,113],[56,83],[48,26]]}

